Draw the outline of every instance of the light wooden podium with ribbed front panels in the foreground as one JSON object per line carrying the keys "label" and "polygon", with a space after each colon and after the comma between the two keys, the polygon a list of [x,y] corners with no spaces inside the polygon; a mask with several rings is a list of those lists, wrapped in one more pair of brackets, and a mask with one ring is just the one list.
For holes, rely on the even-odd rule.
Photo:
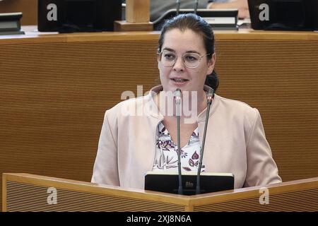
{"label": "light wooden podium with ribbed front panels in the foreground", "polygon": [[[261,204],[267,190],[268,203]],[[4,211],[318,211],[318,177],[196,196],[3,174]]]}

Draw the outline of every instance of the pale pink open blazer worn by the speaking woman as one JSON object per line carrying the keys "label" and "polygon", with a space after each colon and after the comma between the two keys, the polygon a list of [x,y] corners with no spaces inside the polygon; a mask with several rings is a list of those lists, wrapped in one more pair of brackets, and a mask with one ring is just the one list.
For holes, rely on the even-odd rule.
{"label": "pale pink open blazer worn by the speaking woman", "polygon": [[[93,183],[144,188],[145,172],[155,160],[156,128],[163,120],[154,101],[160,90],[158,85],[148,95],[119,102],[105,112]],[[200,141],[205,117],[206,109],[197,120]],[[234,174],[235,189],[281,182],[259,111],[219,95],[210,109],[203,162],[206,172]]]}

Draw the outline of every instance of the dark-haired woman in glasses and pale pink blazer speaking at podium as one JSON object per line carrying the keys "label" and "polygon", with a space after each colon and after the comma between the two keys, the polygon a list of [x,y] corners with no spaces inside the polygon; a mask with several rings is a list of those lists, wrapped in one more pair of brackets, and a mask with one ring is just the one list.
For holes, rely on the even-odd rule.
{"label": "dark-haired woman in glasses and pale pink blazer speaking at podium", "polygon": [[213,30],[205,20],[191,13],[167,20],[158,41],[161,85],[105,112],[92,182],[143,189],[146,172],[177,171],[178,154],[182,172],[196,172],[205,125],[202,172],[234,174],[235,189],[281,182],[259,111],[207,95],[215,63]]}

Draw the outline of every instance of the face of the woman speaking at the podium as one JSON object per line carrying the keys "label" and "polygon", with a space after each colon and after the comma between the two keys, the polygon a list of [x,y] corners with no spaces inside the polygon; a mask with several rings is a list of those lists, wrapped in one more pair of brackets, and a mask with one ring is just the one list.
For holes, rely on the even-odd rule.
{"label": "face of the woman speaking at the podium", "polygon": [[[177,88],[182,91],[203,92],[206,75],[211,74],[215,64],[215,54],[209,60],[201,57],[199,66],[189,69],[182,62],[182,54],[196,53],[200,56],[208,54],[204,47],[203,37],[190,29],[181,31],[177,28],[168,30],[165,33],[161,52],[169,51],[177,56],[173,66],[163,66],[158,61],[160,81],[163,90],[174,92]],[[170,57],[166,55],[166,57]]]}

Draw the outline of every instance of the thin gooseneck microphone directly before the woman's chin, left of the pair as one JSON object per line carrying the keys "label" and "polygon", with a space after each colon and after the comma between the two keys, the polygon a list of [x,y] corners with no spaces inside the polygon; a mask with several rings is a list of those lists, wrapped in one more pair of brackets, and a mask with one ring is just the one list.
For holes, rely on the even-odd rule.
{"label": "thin gooseneck microphone directly before the woman's chin, left of the pair", "polygon": [[179,174],[179,188],[178,194],[183,194],[182,189],[182,174],[181,174],[181,148],[180,148],[180,104],[181,104],[181,90],[175,90],[175,107],[177,113],[177,145],[178,145],[178,174]]}

